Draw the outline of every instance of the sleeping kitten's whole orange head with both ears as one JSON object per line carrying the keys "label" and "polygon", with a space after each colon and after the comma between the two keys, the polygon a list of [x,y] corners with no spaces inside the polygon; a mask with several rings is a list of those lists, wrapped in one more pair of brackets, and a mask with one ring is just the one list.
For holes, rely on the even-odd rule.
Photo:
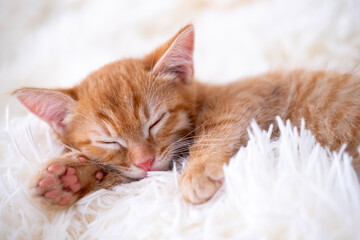
{"label": "sleeping kitten's whole orange head with both ears", "polygon": [[139,179],[166,170],[194,126],[194,29],[142,59],[124,59],[71,89],[22,88],[15,96],[69,147]]}

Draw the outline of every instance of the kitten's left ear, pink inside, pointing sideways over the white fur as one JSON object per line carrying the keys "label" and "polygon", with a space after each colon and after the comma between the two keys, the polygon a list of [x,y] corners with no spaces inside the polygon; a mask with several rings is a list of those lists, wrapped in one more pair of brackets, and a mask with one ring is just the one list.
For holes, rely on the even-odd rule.
{"label": "kitten's left ear, pink inside, pointing sideways over the white fur", "polygon": [[13,92],[30,112],[46,121],[58,134],[66,130],[66,117],[75,104],[74,90],[21,88]]}

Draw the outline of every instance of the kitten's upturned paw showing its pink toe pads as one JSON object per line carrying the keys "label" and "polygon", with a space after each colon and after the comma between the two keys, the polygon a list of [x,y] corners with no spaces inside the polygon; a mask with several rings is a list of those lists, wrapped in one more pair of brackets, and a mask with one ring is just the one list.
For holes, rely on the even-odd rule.
{"label": "kitten's upturned paw showing its pink toe pads", "polygon": [[84,170],[89,169],[87,162],[86,157],[77,153],[48,162],[32,181],[33,195],[47,205],[73,204],[90,191],[89,182],[99,181],[104,176],[101,171],[90,171],[88,179],[84,179]]}

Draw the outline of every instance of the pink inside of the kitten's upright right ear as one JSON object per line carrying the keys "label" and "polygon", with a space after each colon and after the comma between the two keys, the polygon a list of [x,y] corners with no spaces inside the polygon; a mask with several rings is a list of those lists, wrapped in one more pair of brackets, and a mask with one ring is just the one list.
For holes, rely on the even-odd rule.
{"label": "pink inside of the kitten's upright right ear", "polygon": [[183,82],[193,76],[194,28],[185,29],[156,63],[155,74],[173,75]]}

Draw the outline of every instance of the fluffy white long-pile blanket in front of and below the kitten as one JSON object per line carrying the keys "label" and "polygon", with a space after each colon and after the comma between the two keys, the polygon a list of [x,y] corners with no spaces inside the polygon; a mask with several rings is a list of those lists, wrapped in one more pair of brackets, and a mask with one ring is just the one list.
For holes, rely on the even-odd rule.
{"label": "fluffy white long-pile blanket in front of and below the kitten", "polygon": [[359,239],[360,187],[351,158],[329,153],[304,124],[278,119],[281,137],[253,122],[250,140],[224,166],[225,184],[200,206],[181,196],[177,172],[152,172],[100,190],[68,210],[43,212],[27,182],[62,151],[29,115],[0,132],[1,239]]}

